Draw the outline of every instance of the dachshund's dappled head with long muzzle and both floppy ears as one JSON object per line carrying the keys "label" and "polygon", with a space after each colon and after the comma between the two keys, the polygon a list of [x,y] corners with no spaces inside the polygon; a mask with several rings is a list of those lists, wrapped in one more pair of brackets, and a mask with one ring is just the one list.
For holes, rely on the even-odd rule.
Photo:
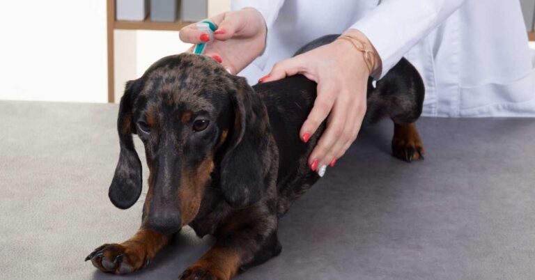
{"label": "dachshund's dappled head with long muzzle and both floppy ears", "polygon": [[137,134],[150,171],[144,212],[151,228],[170,233],[192,221],[212,177],[233,207],[261,199],[265,107],[245,79],[212,59],[180,54],[154,63],[127,83],[117,126],[121,153],[109,199],[121,209],[139,199]]}

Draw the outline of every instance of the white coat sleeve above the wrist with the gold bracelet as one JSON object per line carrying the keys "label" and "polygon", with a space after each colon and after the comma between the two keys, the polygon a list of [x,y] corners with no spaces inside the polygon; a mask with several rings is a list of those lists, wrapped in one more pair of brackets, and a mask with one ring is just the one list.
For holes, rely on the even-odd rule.
{"label": "white coat sleeve above the wrist with the gold bracelet", "polygon": [[358,29],[382,60],[384,77],[411,47],[444,22],[465,0],[383,0],[350,29]]}

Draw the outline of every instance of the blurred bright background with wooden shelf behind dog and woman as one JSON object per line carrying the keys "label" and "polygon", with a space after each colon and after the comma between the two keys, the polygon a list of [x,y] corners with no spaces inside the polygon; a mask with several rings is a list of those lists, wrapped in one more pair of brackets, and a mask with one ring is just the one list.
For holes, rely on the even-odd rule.
{"label": "blurred bright background with wooden shelf behind dog and woman", "polygon": [[[535,0],[520,2],[535,49]],[[229,7],[230,0],[4,1],[0,100],[117,102],[125,81],[189,47],[178,38],[182,26]]]}

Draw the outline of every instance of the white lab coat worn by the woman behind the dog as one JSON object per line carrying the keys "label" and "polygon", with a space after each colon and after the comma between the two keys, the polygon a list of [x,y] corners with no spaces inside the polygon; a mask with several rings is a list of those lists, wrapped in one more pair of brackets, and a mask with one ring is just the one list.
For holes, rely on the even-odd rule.
{"label": "white lab coat worn by the woman behind the dog", "polygon": [[320,36],[355,28],[382,59],[405,56],[426,85],[424,116],[535,116],[535,70],[518,0],[234,0],[267,24],[267,45],[240,72],[251,84]]}

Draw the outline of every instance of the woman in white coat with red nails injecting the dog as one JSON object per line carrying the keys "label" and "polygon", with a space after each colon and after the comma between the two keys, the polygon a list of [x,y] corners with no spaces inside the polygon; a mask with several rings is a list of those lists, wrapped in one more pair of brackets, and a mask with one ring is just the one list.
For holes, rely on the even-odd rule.
{"label": "woman in white coat with red nails injecting the dog", "polygon": [[[535,71],[518,1],[235,0],[232,10],[210,19],[218,29],[205,54],[249,82],[302,74],[318,83],[300,131],[307,141],[327,118],[312,169],[334,166],[355,141],[367,78],[380,79],[402,56],[426,84],[425,116],[535,116]],[[290,58],[331,33],[350,40]],[[180,31],[194,44],[207,35],[194,24]]]}

